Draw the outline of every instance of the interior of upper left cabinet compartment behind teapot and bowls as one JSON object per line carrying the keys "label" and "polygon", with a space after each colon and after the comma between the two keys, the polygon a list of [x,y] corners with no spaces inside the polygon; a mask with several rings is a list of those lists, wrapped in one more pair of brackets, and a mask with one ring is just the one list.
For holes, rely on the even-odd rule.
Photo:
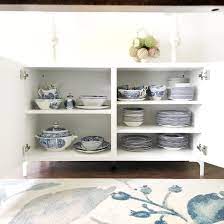
{"label": "interior of upper left cabinet compartment behind teapot and bowls", "polygon": [[[110,69],[85,68],[25,68],[29,79],[25,82],[26,109],[36,109],[37,90],[46,84],[55,84],[60,97],[71,93],[74,99],[80,95],[105,95],[111,98]],[[63,105],[61,106],[63,108]]]}

